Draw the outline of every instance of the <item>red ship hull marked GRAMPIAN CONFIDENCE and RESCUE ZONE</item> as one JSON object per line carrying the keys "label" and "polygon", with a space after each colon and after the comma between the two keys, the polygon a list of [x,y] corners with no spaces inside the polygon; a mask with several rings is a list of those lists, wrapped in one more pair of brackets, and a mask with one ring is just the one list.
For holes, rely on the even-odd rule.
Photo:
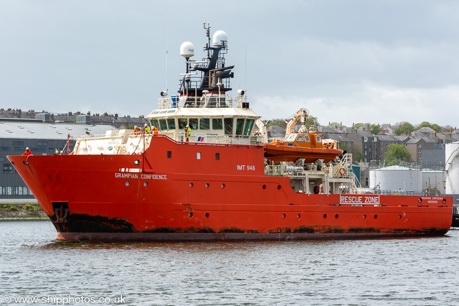
{"label": "red ship hull marked GRAMPIAN CONFIDENCE and RESCUE ZONE", "polygon": [[58,240],[435,236],[447,233],[452,220],[450,197],[296,193],[289,177],[265,175],[263,146],[183,143],[160,135],[142,155],[8,159]]}

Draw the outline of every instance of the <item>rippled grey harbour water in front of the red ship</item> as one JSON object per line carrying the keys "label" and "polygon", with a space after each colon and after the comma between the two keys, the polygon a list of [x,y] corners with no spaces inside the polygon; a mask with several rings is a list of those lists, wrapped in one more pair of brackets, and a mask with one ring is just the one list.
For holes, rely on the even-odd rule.
{"label": "rippled grey harbour water in front of the red ship", "polygon": [[5,297],[61,305],[459,304],[456,230],[441,238],[322,242],[55,238],[49,221],[0,221],[0,305]]}

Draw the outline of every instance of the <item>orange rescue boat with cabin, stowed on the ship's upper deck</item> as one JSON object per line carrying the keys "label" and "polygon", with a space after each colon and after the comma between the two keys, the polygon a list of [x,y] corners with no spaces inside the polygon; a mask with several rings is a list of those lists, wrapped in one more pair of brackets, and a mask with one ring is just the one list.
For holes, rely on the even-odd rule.
{"label": "orange rescue boat with cabin, stowed on the ship's upper deck", "polygon": [[322,137],[316,133],[292,133],[281,141],[264,143],[265,158],[273,162],[292,162],[299,158],[304,163],[314,163],[323,160],[329,163],[343,154],[335,148],[334,143],[322,143]]}

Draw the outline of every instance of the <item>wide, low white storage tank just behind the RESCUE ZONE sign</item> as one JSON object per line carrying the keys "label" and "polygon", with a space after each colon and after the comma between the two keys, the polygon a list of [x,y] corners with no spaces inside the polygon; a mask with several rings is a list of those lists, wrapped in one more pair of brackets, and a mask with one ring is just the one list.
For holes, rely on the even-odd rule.
{"label": "wide, low white storage tank just behind the RESCUE ZONE sign", "polygon": [[422,171],[401,166],[370,170],[370,188],[381,190],[422,190]]}

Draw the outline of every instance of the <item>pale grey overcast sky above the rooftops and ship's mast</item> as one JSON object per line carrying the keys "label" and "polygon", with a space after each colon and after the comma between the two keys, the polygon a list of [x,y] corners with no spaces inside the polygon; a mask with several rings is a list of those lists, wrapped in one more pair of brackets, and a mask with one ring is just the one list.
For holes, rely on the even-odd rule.
{"label": "pale grey overcast sky above the rooftops and ship's mast", "polygon": [[[0,107],[147,115],[228,34],[233,89],[264,119],[459,127],[459,1],[0,0]],[[236,93],[234,92],[234,95]]]}

